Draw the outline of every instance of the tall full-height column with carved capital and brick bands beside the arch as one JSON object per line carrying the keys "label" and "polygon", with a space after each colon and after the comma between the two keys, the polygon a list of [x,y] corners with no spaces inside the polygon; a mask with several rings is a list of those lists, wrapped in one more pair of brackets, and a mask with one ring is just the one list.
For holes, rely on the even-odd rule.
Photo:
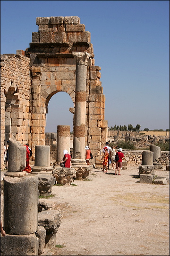
{"label": "tall full-height column with carved capital and brick bands beside the arch", "polygon": [[87,64],[90,54],[73,52],[76,58],[76,99],[73,128],[73,160],[76,164],[85,163],[85,112],[86,112],[86,80]]}

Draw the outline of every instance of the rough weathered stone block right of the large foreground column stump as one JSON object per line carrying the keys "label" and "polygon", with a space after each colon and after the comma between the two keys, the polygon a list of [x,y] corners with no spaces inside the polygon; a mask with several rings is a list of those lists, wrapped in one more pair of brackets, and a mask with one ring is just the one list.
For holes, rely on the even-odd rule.
{"label": "rough weathered stone block right of the large foreground column stump", "polygon": [[61,214],[58,210],[44,210],[38,213],[38,224],[46,230],[45,248],[54,248],[56,233],[61,224]]}

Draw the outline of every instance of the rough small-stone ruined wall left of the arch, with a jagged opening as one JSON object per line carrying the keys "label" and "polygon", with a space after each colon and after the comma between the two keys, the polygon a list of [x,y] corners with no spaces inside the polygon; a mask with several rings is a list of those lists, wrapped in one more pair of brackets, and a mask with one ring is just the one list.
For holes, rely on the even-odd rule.
{"label": "rough small-stone ruined wall left of the arch, with a jagged opening", "polygon": [[30,139],[30,59],[23,54],[0,56],[0,168],[9,137],[23,145]]}

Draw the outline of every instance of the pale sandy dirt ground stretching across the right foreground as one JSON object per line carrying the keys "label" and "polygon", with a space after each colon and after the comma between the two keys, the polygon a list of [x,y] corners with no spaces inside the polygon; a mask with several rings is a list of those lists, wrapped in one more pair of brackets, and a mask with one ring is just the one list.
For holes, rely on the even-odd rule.
{"label": "pale sandy dirt ground stretching across the right foreground", "polygon": [[139,183],[137,166],[121,176],[93,169],[72,184],[54,185],[47,199],[61,212],[56,244],[62,247],[46,255],[170,255],[169,184]]}

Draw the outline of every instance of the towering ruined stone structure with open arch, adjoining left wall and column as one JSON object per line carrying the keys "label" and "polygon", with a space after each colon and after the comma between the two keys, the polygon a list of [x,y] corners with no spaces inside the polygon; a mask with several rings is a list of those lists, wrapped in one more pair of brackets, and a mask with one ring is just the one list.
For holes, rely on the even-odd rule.
{"label": "towering ruined stone structure with open arch, adjoining left wall and column", "polygon": [[[73,158],[85,158],[85,145],[100,163],[107,140],[101,68],[94,65],[91,34],[78,17],[36,18],[38,32],[25,51],[1,55],[1,168],[4,142],[11,137],[32,147],[45,145],[51,97],[64,91],[73,101]],[[54,113],[55,118],[55,113]]]}

